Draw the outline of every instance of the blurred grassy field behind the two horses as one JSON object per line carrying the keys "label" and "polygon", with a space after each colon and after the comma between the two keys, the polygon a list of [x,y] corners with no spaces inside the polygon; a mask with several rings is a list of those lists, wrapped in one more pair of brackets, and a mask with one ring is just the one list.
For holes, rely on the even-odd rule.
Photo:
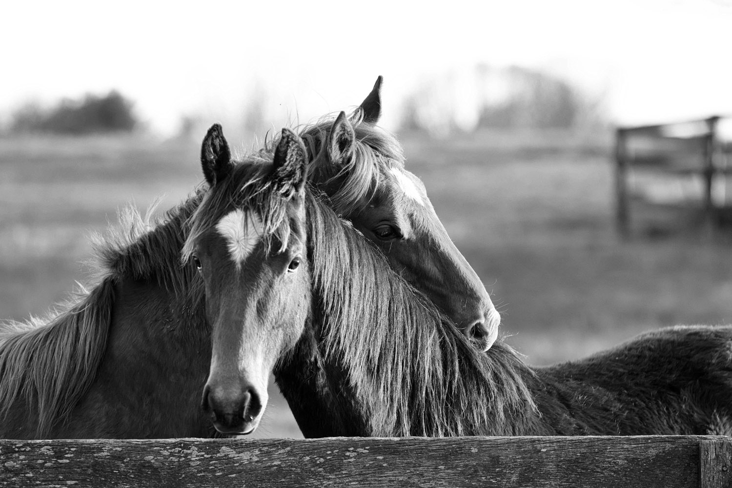
{"label": "blurred grassy field behind the two horses", "polygon": [[[641,331],[732,322],[731,244],[698,230],[621,241],[610,141],[482,133],[404,135],[408,169],[531,364],[576,359]],[[0,139],[0,317],[43,314],[85,282],[89,233],[116,209],[200,181],[198,144],[144,138]],[[258,436],[297,436],[273,393]]]}

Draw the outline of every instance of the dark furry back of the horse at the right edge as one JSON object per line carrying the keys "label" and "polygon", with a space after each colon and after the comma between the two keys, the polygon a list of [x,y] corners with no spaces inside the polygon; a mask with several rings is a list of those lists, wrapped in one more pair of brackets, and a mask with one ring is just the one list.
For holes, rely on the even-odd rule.
{"label": "dark furry back of the horse at the right edge", "polygon": [[537,369],[590,434],[732,435],[732,326],[676,326]]}

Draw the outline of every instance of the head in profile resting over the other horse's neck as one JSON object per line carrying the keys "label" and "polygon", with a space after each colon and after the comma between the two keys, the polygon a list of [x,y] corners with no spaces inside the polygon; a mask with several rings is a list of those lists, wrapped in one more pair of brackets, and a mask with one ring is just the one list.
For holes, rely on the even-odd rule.
{"label": "head in profile resting over the other horse's neck", "polygon": [[425,185],[404,169],[397,141],[375,126],[380,89],[381,77],[356,110],[354,124],[341,112],[321,131],[327,137],[315,148],[310,135],[310,151],[317,153],[314,182],[332,198],[335,210],[384,252],[392,269],[425,293],[477,348],[488,350],[500,315],[447,235]]}

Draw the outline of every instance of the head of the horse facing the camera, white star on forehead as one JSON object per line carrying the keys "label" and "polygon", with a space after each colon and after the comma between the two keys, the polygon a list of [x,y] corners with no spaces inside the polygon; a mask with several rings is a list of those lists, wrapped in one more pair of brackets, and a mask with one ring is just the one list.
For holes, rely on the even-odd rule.
{"label": "head of the horse facing the camera, white star on forehead", "polygon": [[209,190],[184,248],[206,293],[212,359],[203,409],[225,434],[253,432],[269,373],[302,334],[310,306],[305,260],[305,147],[283,129],[272,165],[234,164],[217,124],[203,140]]}

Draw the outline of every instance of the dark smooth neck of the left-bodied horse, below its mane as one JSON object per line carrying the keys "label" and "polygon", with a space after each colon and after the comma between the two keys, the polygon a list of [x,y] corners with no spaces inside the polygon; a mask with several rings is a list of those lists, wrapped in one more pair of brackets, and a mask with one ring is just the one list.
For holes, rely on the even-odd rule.
{"label": "dark smooth neck of the left-bodied horse, below its mane", "polygon": [[160,285],[119,280],[105,357],[60,434],[208,437],[210,421],[199,405],[210,341],[204,323],[191,320]]}

